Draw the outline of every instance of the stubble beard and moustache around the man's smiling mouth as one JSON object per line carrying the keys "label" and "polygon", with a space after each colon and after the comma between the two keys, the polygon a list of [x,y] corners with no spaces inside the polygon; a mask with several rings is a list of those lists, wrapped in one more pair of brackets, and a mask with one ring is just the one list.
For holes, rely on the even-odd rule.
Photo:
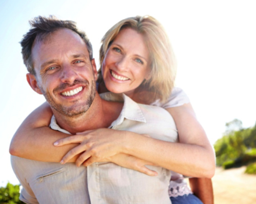
{"label": "stubble beard and moustache around the man's smiling mouth", "polygon": [[[61,89],[65,89],[67,87],[71,87],[74,86],[75,84],[81,84],[81,85],[85,85],[85,88],[90,87],[89,82],[87,80],[84,81],[74,81],[73,84],[62,84],[59,87],[57,87],[56,89],[53,90],[53,93],[59,92],[59,90]],[[77,106],[72,106],[72,107],[65,107],[62,104],[56,103],[55,100],[52,98],[51,94],[45,90],[41,89],[42,94],[44,94],[48,104],[51,106],[51,108],[53,108],[54,110],[56,110],[57,112],[59,112],[61,115],[65,115],[68,117],[77,117],[83,113],[86,113],[88,111],[88,109],[91,107],[93,100],[95,98],[96,95],[96,82],[95,80],[91,81],[91,88],[89,90],[88,93],[88,97],[84,98],[84,100],[86,100],[86,103],[83,105],[77,105]],[[73,103],[75,104],[77,101],[73,101]]]}

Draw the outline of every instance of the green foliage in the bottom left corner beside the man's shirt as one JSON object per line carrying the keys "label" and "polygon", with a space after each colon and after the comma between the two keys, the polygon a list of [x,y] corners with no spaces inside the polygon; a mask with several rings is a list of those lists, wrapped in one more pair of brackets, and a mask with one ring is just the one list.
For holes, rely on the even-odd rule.
{"label": "green foliage in the bottom left corner beside the man's shirt", "polygon": [[6,187],[0,188],[0,203],[3,204],[22,204],[24,202],[18,199],[19,186],[8,183]]}

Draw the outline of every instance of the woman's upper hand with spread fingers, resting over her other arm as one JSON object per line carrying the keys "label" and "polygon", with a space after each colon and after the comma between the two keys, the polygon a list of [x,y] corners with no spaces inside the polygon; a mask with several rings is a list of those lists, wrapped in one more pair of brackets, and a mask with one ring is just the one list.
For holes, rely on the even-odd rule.
{"label": "woman's upper hand with spread fingers, resting over her other arm", "polygon": [[61,160],[65,164],[74,156],[81,154],[76,160],[76,165],[80,166],[86,161],[86,166],[110,158],[122,152],[125,131],[112,129],[97,129],[86,131],[63,138],[54,142],[55,146],[62,146],[71,143],[80,143],[80,145],[71,149]]}

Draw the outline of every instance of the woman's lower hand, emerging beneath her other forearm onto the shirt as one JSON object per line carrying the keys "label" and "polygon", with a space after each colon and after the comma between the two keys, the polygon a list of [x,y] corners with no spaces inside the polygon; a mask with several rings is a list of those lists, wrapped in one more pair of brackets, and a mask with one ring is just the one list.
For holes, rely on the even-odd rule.
{"label": "woman's lower hand, emerging beneath her other forearm onto the shirt", "polygon": [[[139,158],[131,156],[131,155],[123,154],[123,153],[114,155],[110,158],[105,158],[99,162],[113,162],[113,163],[117,164],[118,166],[133,169],[133,170],[145,173],[146,175],[150,175],[150,176],[158,175],[158,173],[156,171],[153,171],[153,170],[145,167],[145,165],[155,166],[152,162],[147,162],[145,160],[139,159]],[[83,165],[88,166],[87,161],[84,162]]]}

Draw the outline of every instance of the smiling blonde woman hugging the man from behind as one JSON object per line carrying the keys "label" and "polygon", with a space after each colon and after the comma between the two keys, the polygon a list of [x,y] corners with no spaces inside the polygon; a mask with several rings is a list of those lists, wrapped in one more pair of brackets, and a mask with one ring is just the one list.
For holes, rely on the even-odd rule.
{"label": "smiling blonde woman hugging the man from behind", "polygon": [[[149,151],[147,150],[148,147],[142,142],[145,141],[144,136],[130,133],[131,138],[135,138],[140,148],[137,148],[135,152],[124,152],[121,145],[115,148],[119,152],[153,162],[178,173],[197,177],[211,177],[215,168],[214,153],[201,125],[195,118],[193,109],[190,104],[184,104],[188,102],[186,97],[185,102],[179,99],[184,100],[182,91],[176,91],[175,93],[178,98],[177,104],[173,104],[175,100],[172,97],[175,94],[169,97],[175,79],[175,65],[168,38],[159,22],[149,16],[120,21],[103,37],[100,60],[102,76],[100,75],[98,80],[99,92],[104,92],[107,89],[114,93],[125,93],[137,103],[162,106],[174,117],[179,132],[179,140],[183,143],[153,142],[151,138],[148,138],[147,140],[151,141]],[[17,152],[17,154],[14,154],[15,156],[49,161],[49,158],[44,157],[44,144],[47,144],[47,141],[43,136],[45,134],[56,135],[56,132],[51,131],[48,127],[41,127],[48,126],[52,115],[49,108],[45,108],[45,106],[40,107],[34,114],[32,113],[15,134],[11,144],[11,149]],[[175,106],[178,107],[173,108]],[[38,117],[37,115],[42,116]],[[35,121],[33,121],[34,119]],[[187,123],[184,124],[184,121],[187,121]],[[40,132],[38,129],[40,129]],[[35,134],[40,137],[35,138]],[[61,133],[57,134],[61,135]],[[109,141],[101,143],[106,134],[109,134]],[[122,137],[123,134],[122,131],[99,129],[87,132],[82,136],[73,137],[73,140],[60,140],[56,145],[81,143],[63,157],[61,163],[65,163],[72,158],[74,152],[75,155],[80,154],[85,149],[87,151],[76,161],[78,166],[84,161],[85,165],[102,161],[104,159],[102,157],[97,158],[93,154],[88,155],[88,152],[92,151],[85,148],[90,139],[95,138],[92,136],[97,135],[95,147],[106,152],[105,149],[108,148],[108,144],[117,140],[116,138]],[[62,134],[62,137],[66,137],[66,135],[63,136]],[[30,145],[38,141],[40,141],[40,145]],[[164,147],[160,146],[163,144]],[[26,149],[23,147],[26,147]],[[35,152],[35,154],[31,155],[30,152]],[[63,155],[65,153],[64,151]],[[51,158],[51,161],[54,161],[54,157]],[[55,161],[59,160],[56,159]],[[146,171],[147,174],[152,175],[152,172],[148,169],[143,168],[141,171]]]}

